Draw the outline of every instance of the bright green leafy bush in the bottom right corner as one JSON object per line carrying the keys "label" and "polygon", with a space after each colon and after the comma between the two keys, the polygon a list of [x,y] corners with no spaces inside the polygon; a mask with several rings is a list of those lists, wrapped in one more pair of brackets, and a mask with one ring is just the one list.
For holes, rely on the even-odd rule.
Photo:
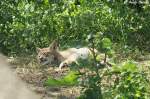
{"label": "bright green leafy bush in the bottom right corner", "polygon": [[140,71],[133,61],[126,61],[120,66],[114,66],[111,76],[114,74],[117,78],[109,92],[115,99],[148,99],[147,74]]}

